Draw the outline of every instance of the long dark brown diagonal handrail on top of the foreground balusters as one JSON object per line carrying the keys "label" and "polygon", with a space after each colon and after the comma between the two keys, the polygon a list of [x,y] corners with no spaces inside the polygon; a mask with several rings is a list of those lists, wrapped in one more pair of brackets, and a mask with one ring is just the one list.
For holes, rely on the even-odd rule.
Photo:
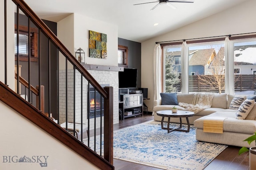
{"label": "long dark brown diagonal handrail on top of the foreground balusters", "polygon": [[22,12],[27,16],[30,16],[30,20],[34,21],[34,24],[40,28],[40,30],[51,39],[51,42],[58,47],[60,52],[67,57],[68,61],[76,66],[76,69],[92,84],[92,86],[107,99],[107,92],[100,86],[100,84],[94,79],[94,77],[79,63],[78,60],[68,51],[63,43],[56,37],[56,35],[48,28],[48,26],[36,15],[36,13],[24,2],[24,0],[12,0]]}

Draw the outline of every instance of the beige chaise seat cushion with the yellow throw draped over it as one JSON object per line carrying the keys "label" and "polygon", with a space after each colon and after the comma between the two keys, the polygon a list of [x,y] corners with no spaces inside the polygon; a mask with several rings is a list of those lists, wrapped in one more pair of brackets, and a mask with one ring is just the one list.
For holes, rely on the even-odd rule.
{"label": "beige chaise seat cushion with the yellow throw draped over it", "polygon": [[223,131],[253,134],[256,132],[256,121],[236,119],[236,112],[218,111],[194,121],[194,126],[203,129],[204,119],[207,117],[226,117],[223,121]]}

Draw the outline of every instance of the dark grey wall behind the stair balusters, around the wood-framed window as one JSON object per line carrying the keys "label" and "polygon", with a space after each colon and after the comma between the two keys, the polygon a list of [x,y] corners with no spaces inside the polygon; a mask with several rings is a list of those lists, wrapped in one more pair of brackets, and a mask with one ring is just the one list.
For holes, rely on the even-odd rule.
{"label": "dark grey wall behind the stair balusters, around the wood-framed window", "polygon": [[[47,20],[42,20],[44,23],[52,30],[52,32],[57,35],[57,23]],[[16,23],[16,14],[15,14]],[[31,27],[36,28],[36,26],[30,22]],[[25,15],[19,15],[19,25],[28,26],[28,17]],[[41,42],[41,84],[44,86],[44,111],[49,112],[49,55],[48,55],[48,38],[40,33]],[[39,46],[38,46],[39,51]],[[38,55],[39,56],[39,55]],[[15,61],[16,64],[16,61]],[[28,61],[20,61],[21,76],[28,81]],[[52,43],[50,43],[50,112],[53,115],[57,115],[57,49]],[[39,62],[31,62],[31,85],[36,87],[39,85]],[[21,86],[21,94],[25,94],[24,86]],[[28,94],[28,90],[26,90]],[[32,98],[33,105],[36,105],[36,98]],[[54,116],[56,118],[56,116]]]}

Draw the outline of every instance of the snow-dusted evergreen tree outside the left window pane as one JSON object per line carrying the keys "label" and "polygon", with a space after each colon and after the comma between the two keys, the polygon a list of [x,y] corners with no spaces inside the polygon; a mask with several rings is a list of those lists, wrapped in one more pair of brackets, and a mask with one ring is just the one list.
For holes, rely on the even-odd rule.
{"label": "snow-dusted evergreen tree outside the left window pane", "polygon": [[175,84],[180,82],[178,66],[175,65],[174,52],[165,49],[165,92],[176,92]]}

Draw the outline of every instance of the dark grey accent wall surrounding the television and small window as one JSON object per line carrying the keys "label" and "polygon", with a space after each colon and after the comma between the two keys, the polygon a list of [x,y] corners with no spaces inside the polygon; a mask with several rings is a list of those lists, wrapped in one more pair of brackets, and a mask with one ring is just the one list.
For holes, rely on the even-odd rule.
{"label": "dark grey accent wall surrounding the television and small window", "polygon": [[[118,45],[128,47],[128,68],[137,68],[137,89],[141,87],[141,43],[130,41],[127,39],[118,38]],[[137,90],[131,89],[131,90]],[[124,92],[122,92],[124,91]],[[121,93],[126,93],[127,90],[122,89]]]}

